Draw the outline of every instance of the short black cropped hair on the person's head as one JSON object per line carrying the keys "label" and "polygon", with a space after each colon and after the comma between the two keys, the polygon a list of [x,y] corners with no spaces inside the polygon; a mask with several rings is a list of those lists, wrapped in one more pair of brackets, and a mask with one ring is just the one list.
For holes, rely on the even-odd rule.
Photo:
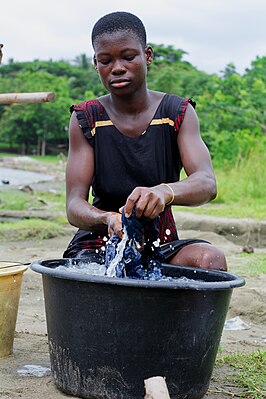
{"label": "short black cropped hair on the person's head", "polygon": [[118,31],[133,33],[139,38],[143,48],[146,47],[146,29],[142,21],[136,15],[125,11],[116,11],[106,14],[95,23],[91,33],[93,47],[99,36],[105,33],[116,33]]}

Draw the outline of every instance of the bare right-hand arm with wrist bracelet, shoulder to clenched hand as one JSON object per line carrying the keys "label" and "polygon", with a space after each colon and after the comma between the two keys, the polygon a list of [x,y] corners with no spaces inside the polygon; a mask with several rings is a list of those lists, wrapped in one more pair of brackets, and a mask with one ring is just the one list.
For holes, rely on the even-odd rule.
{"label": "bare right-hand arm with wrist bracelet, shoulder to clenched hand", "polygon": [[[173,205],[196,206],[216,196],[216,182],[209,151],[200,136],[199,122],[189,104],[178,134],[178,147],[187,178],[169,183],[174,193]],[[136,215],[155,218],[172,200],[172,191],[166,185],[151,188],[136,187],[129,195],[125,214],[130,216],[134,204]]]}

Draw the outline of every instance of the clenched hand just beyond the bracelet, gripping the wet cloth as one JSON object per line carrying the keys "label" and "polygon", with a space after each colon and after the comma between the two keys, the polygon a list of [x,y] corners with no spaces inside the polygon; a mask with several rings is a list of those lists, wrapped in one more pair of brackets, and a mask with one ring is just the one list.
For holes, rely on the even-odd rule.
{"label": "clenched hand just beyond the bracelet, gripping the wet cloth", "polygon": [[165,207],[165,194],[162,186],[155,187],[136,187],[128,196],[124,212],[126,217],[130,217],[132,209],[136,205],[136,217],[145,216],[155,219]]}

